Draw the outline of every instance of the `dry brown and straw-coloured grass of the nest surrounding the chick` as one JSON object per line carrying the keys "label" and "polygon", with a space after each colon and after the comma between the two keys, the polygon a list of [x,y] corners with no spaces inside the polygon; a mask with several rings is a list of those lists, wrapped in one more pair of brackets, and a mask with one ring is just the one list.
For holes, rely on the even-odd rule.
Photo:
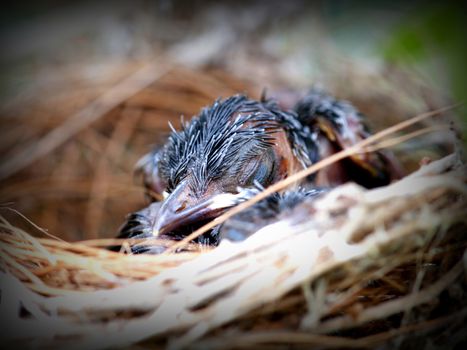
{"label": "dry brown and straw-coloured grass of the nest surrounding the chick", "polygon": [[[261,93],[262,86],[219,70],[144,67],[128,65],[108,79],[111,90],[73,84],[69,98],[65,89],[60,101],[41,100],[42,108],[29,101],[29,109],[4,112],[23,127],[12,123],[1,143],[14,165],[2,167],[10,175],[2,202],[39,226],[2,208],[0,314],[8,344],[441,348],[465,339],[467,179],[458,153],[385,188],[340,186],[238,244],[159,256],[100,248],[115,243],[106,237],[144,206],[131,169],[163,140],[167,121],[177,126],[181,114],[219,96]],[[133,85],[147,67],[152,74]],[[395,108],[377,112],[382,124],[403,119]],[[419,130],[366,146],[391,146]],[[435,151],[402,149],[404,163],[414,169],[420,154],[452,150],[449,139],[436,140]]]}

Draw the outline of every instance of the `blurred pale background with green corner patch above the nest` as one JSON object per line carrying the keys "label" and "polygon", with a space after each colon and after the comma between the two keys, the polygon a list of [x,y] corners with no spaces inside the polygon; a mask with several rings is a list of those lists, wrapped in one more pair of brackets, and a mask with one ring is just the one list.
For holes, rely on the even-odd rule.
{"label": "blurred pale background with green corner patch above the nest", "polygon": [[[0,102],[24,105],[26,91],[31,97],[41,79],[54,79],[53,69],[40,74],[44,67],[86,65],[98,75],[112,62],[161,53],[265,85],[277,75],[298,87],[333,88],[329,81],[349,65],[371,74],[397,69],[442,99],[462,102],[466,13],[454,1],[10,3],[0,13]],[[467,124],[465,107],[459,115]]]}

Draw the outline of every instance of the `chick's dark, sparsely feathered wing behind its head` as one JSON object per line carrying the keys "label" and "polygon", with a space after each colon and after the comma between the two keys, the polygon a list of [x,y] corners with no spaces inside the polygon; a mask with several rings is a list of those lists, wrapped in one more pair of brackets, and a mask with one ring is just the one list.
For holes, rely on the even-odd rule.
{"label": "chick's dark, sparsely feathered wing behind its head", "polygon": [[[315,134],[321,159],[370,135],[365,117],[354,106],[322,91],[312,90],[297,103],[295,111],[300,122]],[[400,165],[388,151],[356,153],[326,172],[321,179],[332,178],[326,185],[336,185],[341,178],[340,182],[353,180],[365,187],[376,187],[402,176]]]}

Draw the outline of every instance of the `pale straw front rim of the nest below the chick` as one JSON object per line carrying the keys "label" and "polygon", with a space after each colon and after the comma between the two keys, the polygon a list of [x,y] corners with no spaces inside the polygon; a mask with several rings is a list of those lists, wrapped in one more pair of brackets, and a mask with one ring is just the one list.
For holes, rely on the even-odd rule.
{"label": "pale straw front rim of the nest below the chick", "polygon": [[[212,79],[206,86],[204,98],[219,93]],[[121,102],[109,96],[101,107]],[[122,120],[113,135],[128,139]],[[119,154],[114,143],[107,150]],[[454,153],[386,187],[339,186],[243,242],[160,255],[109,251],[100,246],[114,241],[105,239],[37,238],[2,219],[2,338],[79,349],[460,344],[467,319],[466,182]]]}

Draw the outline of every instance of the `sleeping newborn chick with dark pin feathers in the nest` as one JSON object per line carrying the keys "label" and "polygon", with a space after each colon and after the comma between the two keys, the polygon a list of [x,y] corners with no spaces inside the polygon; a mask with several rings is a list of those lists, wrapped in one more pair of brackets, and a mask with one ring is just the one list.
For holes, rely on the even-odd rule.
{"label": "sleeping newborn chick with dark pin feathers in the nest", "polygon": [[[131,214],[120,237],[182,239],[251,198],[260,188],[368,135],[362,116],[353,106],[320,91],[310,92],[291,111],[280,109],[274,100],[255,101],[242,95],[217,100],[188,123],[182,123],[180,131],[172,128],[164,147],[140,160],[138,169],[154,203]],[[375,187],[399,176],[396,162],[384,152],[354,155],[297,183],[295,190],[300,190],[294,195],[265,199],[250,214],[264,213],[265,224],[273,218],[267,214],[271,211],[258,210],[261,207],[273,206],[277,211],[282,200],[289,203],[294,198],[290,203],[295,205],[319,195],[324,188],[347,181]],[[158,198],[164,199],[157,202]],[[197,242],[216,245],[219,231],[217,226]],[[228,229],[222,237],[236,240],[250,233],[239,235],[238,230]],[[158,248],[132,250],[160,252]]]}

